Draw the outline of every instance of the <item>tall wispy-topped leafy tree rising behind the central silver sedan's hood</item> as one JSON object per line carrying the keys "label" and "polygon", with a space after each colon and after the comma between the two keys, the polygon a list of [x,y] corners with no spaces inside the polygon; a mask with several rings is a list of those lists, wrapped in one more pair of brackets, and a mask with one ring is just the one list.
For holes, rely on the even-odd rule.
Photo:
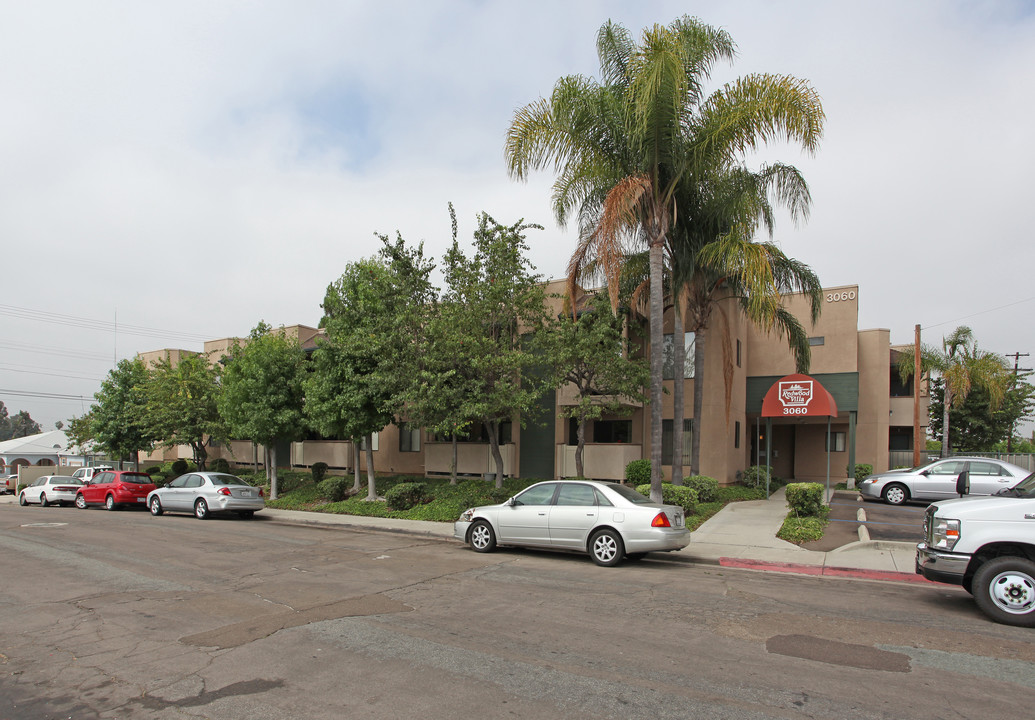
{"label": "tall wispy-topped leafy tree rising behind the central silver sedan's hood", "polygon": [[538,398],[552,383],[539,346],[548,310],[541,278],[526,253],[525,232],[539,226],[502,226],[478,215],[473,253],[454,238],[443,270],[443,305],[452,312],[450,336],[463,358],[461,408],[480,422],[496,463],[496,487],[503,486],[500,429],[505,422],[527,424]]}

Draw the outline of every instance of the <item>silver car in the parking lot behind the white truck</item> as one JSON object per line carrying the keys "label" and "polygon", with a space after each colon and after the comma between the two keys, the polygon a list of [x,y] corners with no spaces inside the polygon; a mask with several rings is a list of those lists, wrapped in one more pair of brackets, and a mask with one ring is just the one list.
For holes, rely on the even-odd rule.
{"label": "silver car in the parking lot behind the white truck", "polygon": [[946,457],[917,468],[870,475],[859,483],[863,500],[901,505],[908,500],[948,500],[956,497],[956,478],[970,475],[971,494],[995,494],[1013,487],[1030,471],[988,457]]}

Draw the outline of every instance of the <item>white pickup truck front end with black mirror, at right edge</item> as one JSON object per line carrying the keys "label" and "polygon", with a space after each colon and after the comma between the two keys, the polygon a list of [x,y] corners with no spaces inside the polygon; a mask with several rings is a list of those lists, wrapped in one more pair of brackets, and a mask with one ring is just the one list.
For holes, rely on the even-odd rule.
{"label": "white pickup truck front end with black mirror, at right edge", "polygon": [[923,534],[917,574],[963,586],[997,623],[1035,627],[1035,473],[990,497],[935,503]]}

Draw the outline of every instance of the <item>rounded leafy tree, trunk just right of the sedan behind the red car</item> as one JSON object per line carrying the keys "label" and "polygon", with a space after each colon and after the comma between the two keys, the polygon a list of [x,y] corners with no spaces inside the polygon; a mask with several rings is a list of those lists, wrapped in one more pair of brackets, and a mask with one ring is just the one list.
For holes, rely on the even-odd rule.
{"label": "rounded leafy tree, trunk just right of the sedan behind the red car", "polygon": [[270,499],[276,500],[276,444],[304,434],[302,415],[305,352],[284,328],[259,323],[243,347],[235,343],[224,360],[219,414],[235,438],[261,443],[269,452],[266,464]]}

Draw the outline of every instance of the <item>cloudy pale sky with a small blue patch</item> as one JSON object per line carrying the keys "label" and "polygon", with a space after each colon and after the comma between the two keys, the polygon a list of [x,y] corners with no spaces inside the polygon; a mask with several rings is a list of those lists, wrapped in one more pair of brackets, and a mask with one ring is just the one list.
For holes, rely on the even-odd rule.
{"label": "cloudy pale sky with a small blue patch", "polygon": [[541,223],[561,276],[574,233],[550,174],[507,177],[513,112],[596,76],[604,21],[684,13],[739,47],[713,87],[820,92],[820,152],[767,153],[814,197],[775,239],[859,286],[860,328],[1035,353],[1032,2],[39,0],[0,23],[0,400],[49,429],[87,403],[41,395],[90,398],[115,359],[316,325],[375,233],[441,258],[448,202],[462,239],[480,211]]}

